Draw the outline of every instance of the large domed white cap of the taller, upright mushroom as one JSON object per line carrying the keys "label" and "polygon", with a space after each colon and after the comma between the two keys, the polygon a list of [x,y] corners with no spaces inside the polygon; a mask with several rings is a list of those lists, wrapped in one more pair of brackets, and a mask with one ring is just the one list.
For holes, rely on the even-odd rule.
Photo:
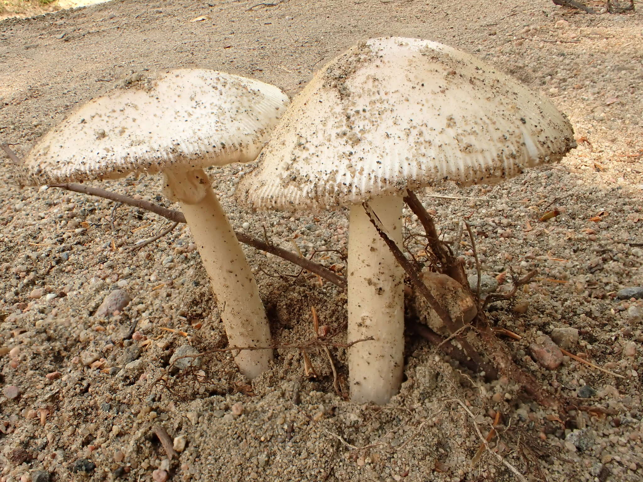
{"label": "large domed white cap of the taller, upright mushroom", "polygon": [[238,192],[255,208],[330,208],[451,179],[493,183],[575,147],[547,99],[455,48],[371,39],[323,67]]}

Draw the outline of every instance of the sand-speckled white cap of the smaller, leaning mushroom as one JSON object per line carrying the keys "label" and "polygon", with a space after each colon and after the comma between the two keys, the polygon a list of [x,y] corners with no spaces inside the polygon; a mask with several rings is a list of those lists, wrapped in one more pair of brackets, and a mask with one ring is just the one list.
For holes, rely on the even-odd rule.
{"label": "sand-speckled white cap of the smaller, leaning mushroom", "polygon": [[288,104],[274,85],[212,70],[134,74],[53,127],[26,184],[252,161]]}

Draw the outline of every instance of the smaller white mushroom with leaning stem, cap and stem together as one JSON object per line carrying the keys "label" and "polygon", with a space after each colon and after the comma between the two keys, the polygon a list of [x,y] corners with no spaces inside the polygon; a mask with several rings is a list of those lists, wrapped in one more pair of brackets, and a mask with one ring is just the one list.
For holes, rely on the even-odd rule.
{"label": "smaller white mushroom with leaning stem, cap and stem together", "polygon": [[[288,97],[274,85],[204,69],[133,74],[69,115],[34,145],[24,184],[163,172],[181,204],[217,296],[231,346],[269,346],[257,283],[203,168],[257,157]],[[272,350],[243,350],[256,377]]]}

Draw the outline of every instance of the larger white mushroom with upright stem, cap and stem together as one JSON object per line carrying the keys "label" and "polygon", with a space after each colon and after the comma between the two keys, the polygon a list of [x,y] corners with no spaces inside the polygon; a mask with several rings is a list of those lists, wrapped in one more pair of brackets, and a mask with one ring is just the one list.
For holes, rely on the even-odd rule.
{"label": "larger white mushroom with upright stem, cap and stem together", "polygon": [[370,39],[322,67],[273,130],[237,193],[255,208],[350,206],[350,396],[386,403],[403,373],[403,271],[370,223],[402,242],[401,193],[494,183],[574,147],[547,99],[458,49]]}

